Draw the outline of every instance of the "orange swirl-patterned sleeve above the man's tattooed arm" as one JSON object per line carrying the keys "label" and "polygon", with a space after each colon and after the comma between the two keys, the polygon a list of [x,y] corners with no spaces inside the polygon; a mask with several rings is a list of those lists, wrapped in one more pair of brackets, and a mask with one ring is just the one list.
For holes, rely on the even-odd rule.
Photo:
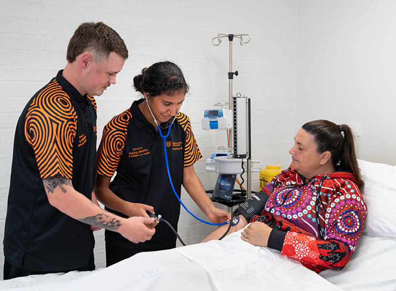
{"label": "orange swirl-patterned sleeve above the man's tattooed arm", "polygon": [[33,99],[25,117],[25,138],[32,146],[42,179],[73,174],[77,114],[69,96],[53,80]]}

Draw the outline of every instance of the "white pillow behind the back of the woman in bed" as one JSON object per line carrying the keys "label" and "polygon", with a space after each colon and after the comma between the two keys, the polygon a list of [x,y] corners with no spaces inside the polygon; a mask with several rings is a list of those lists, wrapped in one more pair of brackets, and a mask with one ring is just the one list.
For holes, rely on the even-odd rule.
{"label": "white pillow behind the back of the woman in bed", "polygon": [[363,233],[396,237],[396,166],[358,160],[367,217]]}

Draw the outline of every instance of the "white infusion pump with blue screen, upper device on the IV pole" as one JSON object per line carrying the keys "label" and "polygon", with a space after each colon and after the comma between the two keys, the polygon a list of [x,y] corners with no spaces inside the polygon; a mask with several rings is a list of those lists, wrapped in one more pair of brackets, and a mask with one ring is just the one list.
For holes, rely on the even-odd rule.
{"label": "white infusion pump with blue screen, upper device on the IV pole", "polygon": [[206,109],[201,119],[202,129],[230,129],[232,111],[229,109]]}

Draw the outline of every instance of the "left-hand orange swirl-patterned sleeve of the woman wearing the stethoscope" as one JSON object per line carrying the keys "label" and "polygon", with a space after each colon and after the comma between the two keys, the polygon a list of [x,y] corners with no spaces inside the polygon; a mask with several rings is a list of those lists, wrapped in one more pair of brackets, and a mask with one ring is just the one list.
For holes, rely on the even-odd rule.
{"label": "left-hand orange swirl-patterned sleeve of the woman wearing the stethoscope", "polygon": [[128,132],[128,123],[132,118],[128,110],[114,116],[104,126],[102,139],[98,149],[98,168],[99,175],[112,177],[117,170],[118,163],[121,159],[125,147],[125,141]]}

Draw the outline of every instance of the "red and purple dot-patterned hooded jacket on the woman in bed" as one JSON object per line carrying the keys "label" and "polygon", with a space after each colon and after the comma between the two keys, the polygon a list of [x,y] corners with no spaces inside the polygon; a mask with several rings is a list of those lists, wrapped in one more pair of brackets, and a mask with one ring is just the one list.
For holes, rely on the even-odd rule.
{"label": "red and purple dot-patterned hooded jacket on the woman in bed", "polygon": [[273,228],[268,247],[317,273],[344,268],[367,213],[353,174],[318,175],[305,183],[289,168],[261,191],[269,198],[261,216],[253,216],[250,222],[264,222]]}

